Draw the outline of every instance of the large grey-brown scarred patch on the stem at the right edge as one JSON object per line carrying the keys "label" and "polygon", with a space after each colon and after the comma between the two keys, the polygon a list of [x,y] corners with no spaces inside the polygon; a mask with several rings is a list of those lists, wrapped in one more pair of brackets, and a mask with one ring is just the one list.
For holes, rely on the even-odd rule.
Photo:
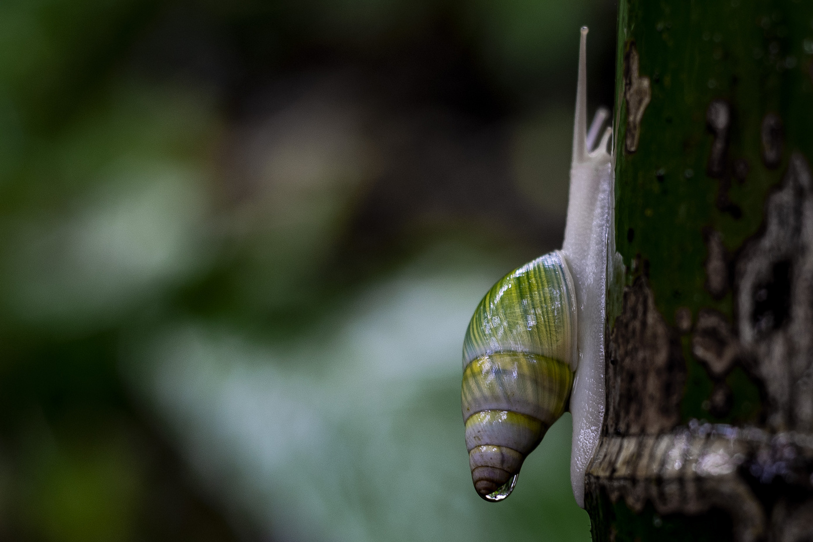
{"label": "large grey-brown scarred patch on the stem at the right edge", "polygon": [[775,431],[813,431],[813,177],[794,153],[767,198],[763,231],[735,271],[737,332],[746,368],[767,394]]}

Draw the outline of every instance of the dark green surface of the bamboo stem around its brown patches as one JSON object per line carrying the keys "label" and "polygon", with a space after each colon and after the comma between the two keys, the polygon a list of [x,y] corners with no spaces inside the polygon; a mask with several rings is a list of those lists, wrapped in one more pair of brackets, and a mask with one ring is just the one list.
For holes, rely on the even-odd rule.
{"label": "dark green surface of the bamboo stem around its brown patches", "polygon": [[[637,150],[628,152],[624,58],[633,46],[640,76],[650,79],[651,99]],[[676,326],[680,308],[691,311],[693,322],[702,308],[718,310],[730,321],[730,288],[715,298],[704,286],[704,232],[720,232],[728,254],[736,254],[759,232],[766,197],[784,175],[791,153],[813,158],[813,3],[622,0],[616,59],[615,245],[624,258],[626,284],[646,275],[655,306],[670,326]],[[706,126],[706,109],[714,100],[728,102],[732,112],[729,173],[723,179],[708,171],[714,135]],[[774,168],[761,154],[760,129],[768,113],[784,125],[781,159]],[[743,180],[730,173],[738,160],[747,164]],[[721,203],[721,192],[728,202]],[[611,323],[618,310],[611,308]],[[713,382],[693,358],[690,336],[681,340],[688,373],[680,423],[759,423],[759,390],[741,368],[726,379],[733,392],[728,414],[709,412]],[[727,540],[726,519],[714,514],[659,518],[651,505],[637,515],[623,500],[606,501],[593,510],[593,536],[603,540],[612,531],[615,540],[698,540],[698,535]]]}

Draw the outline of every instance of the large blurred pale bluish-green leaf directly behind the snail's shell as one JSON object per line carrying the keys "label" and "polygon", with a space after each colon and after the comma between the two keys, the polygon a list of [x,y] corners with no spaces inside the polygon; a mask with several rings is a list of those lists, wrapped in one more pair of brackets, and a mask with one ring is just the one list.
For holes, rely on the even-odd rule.
{"label": "large blurred pale bluish-green leaf directly behind the snail's shell", "polygon": [[127,374],[211,491],[280,537],[585,540],[569,418],[528,462],[510,503],[489,505],[472,488],[460,337],[496,276],[478,265],[407,272],[285,346],[202,323],[161,327],[128,349]]}

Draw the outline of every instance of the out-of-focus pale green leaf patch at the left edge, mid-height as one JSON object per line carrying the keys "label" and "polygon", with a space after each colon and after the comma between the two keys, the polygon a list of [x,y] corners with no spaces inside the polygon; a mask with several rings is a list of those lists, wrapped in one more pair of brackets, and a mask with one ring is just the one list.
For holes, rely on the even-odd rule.
{"label": "out-of-focus pale green leaf patch at the left edge, mid-height", "polygon": [[209,180],[190,158],[211,120],[171,93],[114,96],[6,187],[6,319],[109,326],[201,265]]}

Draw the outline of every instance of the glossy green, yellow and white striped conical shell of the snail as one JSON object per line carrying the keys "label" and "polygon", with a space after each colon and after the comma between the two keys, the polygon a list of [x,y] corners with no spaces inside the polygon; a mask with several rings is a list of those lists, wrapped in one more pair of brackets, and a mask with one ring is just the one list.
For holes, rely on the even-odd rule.
{"label": "glossy green, yellow and white striped conical shell of the snail", "polygon": [[567,410],[576,367],[576,293],[556,250],[499,280],[463,342],[463,421],[472,481],[487,501]]}

